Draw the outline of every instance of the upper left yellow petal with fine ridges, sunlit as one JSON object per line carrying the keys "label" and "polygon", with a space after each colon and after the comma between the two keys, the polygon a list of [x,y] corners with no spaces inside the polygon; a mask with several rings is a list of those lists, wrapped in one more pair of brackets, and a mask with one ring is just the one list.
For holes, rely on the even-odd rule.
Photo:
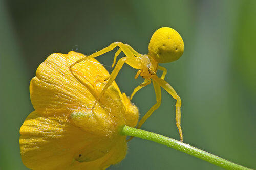
{"label": "upper left yellow petal with fine ridges, sunlit", "polygon": [[30,83],[30,97],[38,112],[54,114],[93,103],[92,94],[71,74],[67,57],[54,53],[37,68]]}

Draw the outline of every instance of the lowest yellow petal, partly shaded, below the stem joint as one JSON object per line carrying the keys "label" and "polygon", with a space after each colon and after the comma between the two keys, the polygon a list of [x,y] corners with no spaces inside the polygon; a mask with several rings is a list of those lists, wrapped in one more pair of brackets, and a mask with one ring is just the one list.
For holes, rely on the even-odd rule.
{"label": "lowest yellow petal, partly shaded, below the stem joint", "polygon": [[[67,121],[65,115],[46,117],[32,112],[20,128],[20,151],[23,163],[31,169],[65,169],[84,168],[102,169],[110,164],[115,164],[124,158],[126,149],[125,137],[121,136],[117,141],[123,141],[122,145],[112,143],[99,136],[87,134],[79,127],[73,126]],[[107,143],[108,142],[108,143]],[[117,145],[118,144],[118,145]],[[112,144],[113,145],[113,144]],[[76,157],[82,155],[82,151],[109,147],[109,152],[100,159],[94,161],[79,162]],[[116,151],[118,150],[118,152]],[[117,156],[118,155],[118,156]],[[80,156],[80,157],[81,157]],[[96,155],[97,156],[97,155]],[[113,157],[120,157],[112,160]],[[88,168],[90,167],[90,168]]]}

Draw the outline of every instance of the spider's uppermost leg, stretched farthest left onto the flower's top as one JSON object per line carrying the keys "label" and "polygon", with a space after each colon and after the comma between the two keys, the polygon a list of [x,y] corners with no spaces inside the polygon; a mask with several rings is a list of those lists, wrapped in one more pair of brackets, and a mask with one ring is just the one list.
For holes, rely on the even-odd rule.
{"label": "spider's uppermost leg, stretched farthest left onto the flower's top", "polygon": [[[94,58],[94,57],[98,57],[104,53],[107,53],[111,50],[113,50],[115,47],[119,46],[121,48],[121,51],[123,51],[123,53],[129,57],[129,58],[133,58],[134,60],[137,60],[137,58],[135,57],[135,54],[126,46],[124,45],[122,42],[114,42],[112,44],[110,44],[108,47],[105,47],[103,48],[102,50],[98,51],[98,52],[95,52],[93,54],[91,54],[90,56],[87,56],[87,57],[84,57],[84,58],[81,58],[80,60],[77,60],[76,62],[74,62],[71,66],[73,67],[75,64],[79,63],[79,62],[82,62],[82,61],[85,61],[85,60],[88,60],[90,58]],[[120,51],[120,52],[121,52]]]}

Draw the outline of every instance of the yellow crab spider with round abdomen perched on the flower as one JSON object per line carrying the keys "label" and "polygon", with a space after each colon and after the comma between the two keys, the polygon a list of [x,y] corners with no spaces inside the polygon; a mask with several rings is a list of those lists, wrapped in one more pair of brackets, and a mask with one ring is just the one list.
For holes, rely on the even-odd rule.
{"label": "yellow crab spider with round abdomen perched on the flower", "polygon": [[[156,93],[156,104],[153,105],[150,110],[144,115],[144,117],[140,120],[137,128],[140,128],[141,125],[145,122],[145,120],[151,116],[151,114],[158,109],[161,104],[161,87],[165,89],[170,95],[176,99],[176,125],[179,130],[180,140],[183,141],[183,135],[181,130],[181,99],[179,95],[176,93],[174,88],[169,85],[164,80],[164,77],[167,73],[166,68],[159,66],[159,63],[168,63],[178,60],[184,51],[184,43],[180,36],[180,34],[172,28],[162,27],[158,29],[153,36],[151,37],[150,44],[148,45],[148,54],[139,54],[136,52],[130,45],[123,44],[122,42],[114,42],[110,44],[108,47],[103,48],[102,50],[93,53],[90,56],[84,57],[75,63],[73,63],[70,68],[72,68],[75,64],[82,62],[84,60],[88,60],[92,57],[100,56],[106,52],[113,50],[115,47],[119,47],[119,50],[115,53],[114,62],[112,67],[114,67],[116,63],[117,56],[121,53],[121,51],[126,55],[126,57],[122,57],[118,60],[114,70],[111,75],[106,78],[108,80],[98,98],[96,99],[93,108],[96,103],[100,100],[102,94],[106,91],[106,89],[113,83],[118,72],[122,68],[123,64],[126,63],[131,67],[138,69],[138,72],[135,76],[135,79],[138,76],[143,77],[145,80],[138,87],[136,87],[131,95],[131,99],[134,94],[139,91],[142,87],[148,85],[153,81],[153,86]],[[159,78],[156,73],[157,70],[163,71],[161,78]]]}

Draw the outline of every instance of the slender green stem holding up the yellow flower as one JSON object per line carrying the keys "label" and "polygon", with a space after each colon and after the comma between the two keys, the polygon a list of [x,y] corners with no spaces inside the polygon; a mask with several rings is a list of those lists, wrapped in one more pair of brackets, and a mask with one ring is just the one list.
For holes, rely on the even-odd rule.
{"label": "slender green stem holding up the yellow flower", "polygon": [[148,132],[148,131],[132,128],[125,125],[120,129],[120,134],[139,137],[146,140],[151,140],[153,142],[166,145],[167,147],[174,148],[178,151],[185,152],[189,155],[195,156],[199,159],[205,160],[207,162],[223,167],[225,169],[249,169],[247,167],[225,160],[221,157],[212,155],[196,147],[192,147],[189,144],[186,144],[178,140],[168,138],[153,132]]}

